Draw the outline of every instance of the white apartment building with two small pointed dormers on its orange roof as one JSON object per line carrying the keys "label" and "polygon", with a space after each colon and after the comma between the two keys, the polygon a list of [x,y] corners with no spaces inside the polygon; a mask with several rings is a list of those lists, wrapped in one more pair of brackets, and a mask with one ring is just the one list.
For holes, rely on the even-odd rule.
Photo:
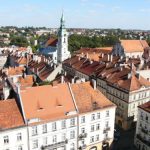
{"label": "white apartment building with two small pointed dormers on its orange roof", "polygon": [[77,112],[67,84],[27,88],[20,101],[30,150],[76,149]]}

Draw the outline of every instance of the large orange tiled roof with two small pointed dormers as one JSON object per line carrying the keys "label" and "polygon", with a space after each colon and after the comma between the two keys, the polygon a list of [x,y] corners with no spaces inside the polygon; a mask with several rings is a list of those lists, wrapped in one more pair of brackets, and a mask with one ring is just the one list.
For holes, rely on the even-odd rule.
{"label": "large orange tiled roof with two small pointed dormers", "polygon": [[21,98],[27,119],[56,120],[66,118],[67,112],[75,111],[67,84],[28,88],[21,91]]}

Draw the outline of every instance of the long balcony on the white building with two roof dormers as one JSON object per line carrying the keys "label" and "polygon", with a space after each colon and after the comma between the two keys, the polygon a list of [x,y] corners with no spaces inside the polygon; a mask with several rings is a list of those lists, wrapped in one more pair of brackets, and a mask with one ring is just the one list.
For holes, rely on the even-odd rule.
{"label": "long balcony on the white building with two roof dormers", "polygon": [[61,141],[61,142],[58,142],[58,143],[42,146],[41,150],[47,150],[47,149],[51,150],[51,149],[54,149],[54,148],[65,146],[65,144],[67,144],[67,143],[68,143],[68,140],[66,139],[65,141]]}

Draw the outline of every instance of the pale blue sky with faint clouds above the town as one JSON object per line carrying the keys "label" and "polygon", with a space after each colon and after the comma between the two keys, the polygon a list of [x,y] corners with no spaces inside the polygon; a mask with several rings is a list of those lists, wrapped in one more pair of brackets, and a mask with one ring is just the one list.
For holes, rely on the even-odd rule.
{"label": "pale blue sky with faint clouds above the town", "polygon": [[0,26],[150,30],[150,0],[0,0]]}

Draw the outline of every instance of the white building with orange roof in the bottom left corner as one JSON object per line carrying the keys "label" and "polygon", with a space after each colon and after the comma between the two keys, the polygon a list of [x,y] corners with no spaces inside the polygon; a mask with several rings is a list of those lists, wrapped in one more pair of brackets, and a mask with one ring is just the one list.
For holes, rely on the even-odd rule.
{"label": "white building with orange roof in the bottom left corner", "polygon": [[28,135],[15,99],[0,101],[0,150],[28,150]]}

